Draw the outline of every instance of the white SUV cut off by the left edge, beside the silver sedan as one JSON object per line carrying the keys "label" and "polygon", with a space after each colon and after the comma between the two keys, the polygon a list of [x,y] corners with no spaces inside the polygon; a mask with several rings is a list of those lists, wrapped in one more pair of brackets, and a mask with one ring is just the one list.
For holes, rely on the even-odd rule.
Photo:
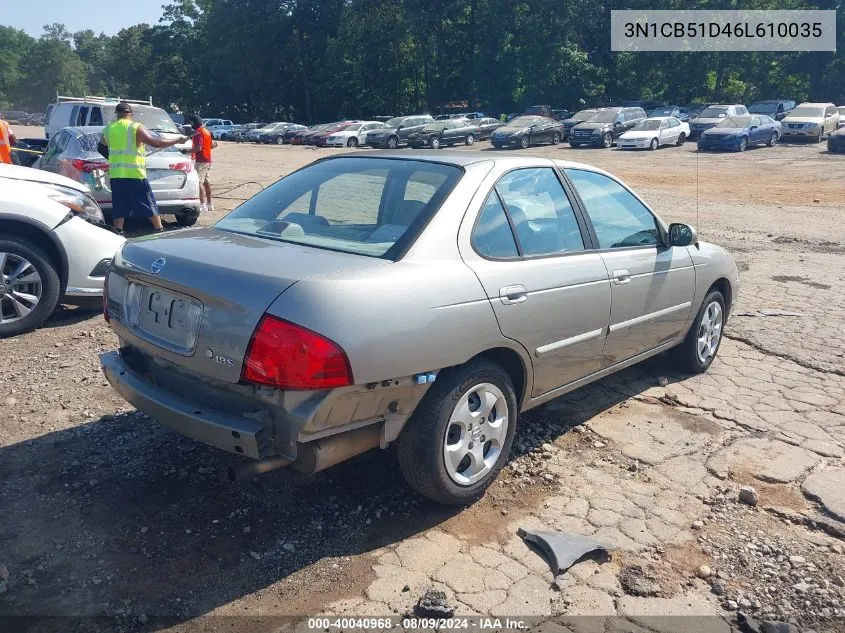
{"label": "white SUV cut off by the left edge, beside the silver sedan", "polygon": [[0,164],[0,338],[37,328],[59,303],[101,303],[124,241],[85,185]]}

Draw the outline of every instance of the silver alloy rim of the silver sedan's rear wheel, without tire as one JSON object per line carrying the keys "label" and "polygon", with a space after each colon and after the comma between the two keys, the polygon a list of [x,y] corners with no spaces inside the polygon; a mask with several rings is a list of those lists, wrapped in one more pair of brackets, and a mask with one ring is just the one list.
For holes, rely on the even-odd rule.
{"label": "silver alloy rim of the silver sedan's rear wheel, without tire", "polygon": [[443,461],[452,481],[469,486],[493,469],[508,434],[509,413],[505,394],[489,382],[461,396],[443,440]]}

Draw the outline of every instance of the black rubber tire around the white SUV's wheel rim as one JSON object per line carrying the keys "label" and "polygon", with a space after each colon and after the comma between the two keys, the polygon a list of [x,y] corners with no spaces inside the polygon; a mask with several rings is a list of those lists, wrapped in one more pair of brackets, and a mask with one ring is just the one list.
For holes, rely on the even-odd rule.
{"label": "black rubber tire around the white SUV's wheel rim", "polygon": [[[61,281],[49,256],[38,245],[27,239],[17,235],[0,234],[0,252],[11,253],[27,260],[41,277],[41,298],[35,309],[16,321],[0,324],[0,338],[5,338],[34,330],[50,318],[59,303]],[[3,310],[6,309],[9,301],[4,298],[0,299],[0,303],[2,303],[0,310]],[[0,315],[2,314],[0,312]]]}

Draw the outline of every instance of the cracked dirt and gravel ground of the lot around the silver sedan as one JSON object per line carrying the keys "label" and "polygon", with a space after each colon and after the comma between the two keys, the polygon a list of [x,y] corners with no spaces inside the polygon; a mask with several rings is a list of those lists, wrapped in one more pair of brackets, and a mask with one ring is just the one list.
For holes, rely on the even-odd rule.
{"label": "cracked dirt and gravel ground of the lot around the silver sedan", "polygon": [[[200,224],[336,151],[221,143]],[[737,611],[843,630],[843,159],[806,144],[527,151],[605,168],[735,254],[741,294],[707,374],[656,358],[531,411],[489,494],[443,509],[390,452],[227,483],[236,458],[107,386],[102,317],[60,310],[0,342],[0,616],[261,632],[290,624],[274,616],[403,614],[438,589],[457,614],[544,631],[728,631]],[[591,535],[612,560],[553,582],[516,536],[527,526]],[[706,620],[656,617],[691,615]]]}

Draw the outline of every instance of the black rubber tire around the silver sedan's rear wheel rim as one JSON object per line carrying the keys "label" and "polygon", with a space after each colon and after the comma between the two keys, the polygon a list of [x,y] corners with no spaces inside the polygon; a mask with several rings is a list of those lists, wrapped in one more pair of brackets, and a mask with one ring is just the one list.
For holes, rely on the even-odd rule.
{"label": "black rubber tire around the silver sedan's rear wheel rim", "polygon": [[[460,485],[449,476],[443,444],[449,418],[462,396],[474,385],[490,383],[504,394],[508,406],[508,429],[499,457],[483,478]],[[467,505],[478,500],[507,462],[518,418],[516,393],[510,376],[499,365],[477,361],[444,370],[417,406],[396,441],[402,475],[424,497],[445,505]]]}

